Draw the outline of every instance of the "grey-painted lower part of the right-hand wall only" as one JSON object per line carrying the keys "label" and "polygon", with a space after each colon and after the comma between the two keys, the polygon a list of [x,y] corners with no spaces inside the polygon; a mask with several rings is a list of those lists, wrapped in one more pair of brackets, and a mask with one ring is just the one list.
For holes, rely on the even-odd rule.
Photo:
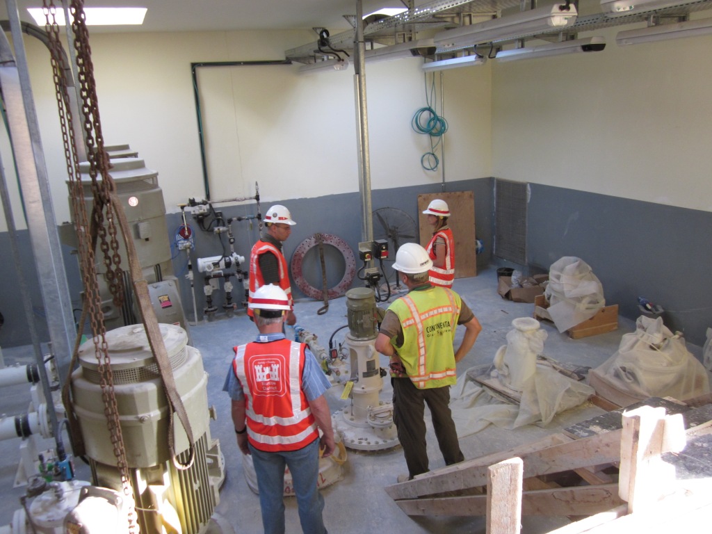
{"label": "grey-painted lower part of the right-hand wall only", "polygon": [[712,213],[573,189],[530,185],[528,262],[547,272],[562,256],[588,263],[609,304],[635,319],[638,296],[703,345],[712,326]]}

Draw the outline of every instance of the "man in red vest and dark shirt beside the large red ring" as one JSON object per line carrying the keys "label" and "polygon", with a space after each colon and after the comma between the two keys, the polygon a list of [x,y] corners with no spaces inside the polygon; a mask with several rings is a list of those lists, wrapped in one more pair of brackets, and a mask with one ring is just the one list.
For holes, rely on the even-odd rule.
{"label": "man in red vest and dark shirt beside the large red ring", "polygon": [[247,315],[250,318],[254,317],[249,303],[252,302],[255,291],[265,284],[273,283],[287,293],[290,308],[287,313],[286,323],[291,326],[297,322],[297,318],[294,315],[289,269],[282,251],[282,244],[289,238],[292,233],[292,226],[296,223],[292,220],[292,214],[290,214],[289,210],[281,204],[271,206],[266,211],[263,221],[265,222],[265,229],[261,239],[254,244],[250,253],[250,290],[247,299]]}

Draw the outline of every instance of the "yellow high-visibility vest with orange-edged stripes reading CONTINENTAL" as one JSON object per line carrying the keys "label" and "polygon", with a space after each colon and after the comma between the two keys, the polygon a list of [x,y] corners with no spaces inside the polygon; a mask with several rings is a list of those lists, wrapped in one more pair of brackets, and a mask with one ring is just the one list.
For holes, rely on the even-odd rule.
{"label": "yellow high-visibility vest with orange-edged stripes reading CONTINENTAL", "polygon": [[413,384],[419,389],[454,384],[453,341],[460,316],[456,294],[444,288],[411,291],[389,309],[401,320],[403,346],[398,353]]}

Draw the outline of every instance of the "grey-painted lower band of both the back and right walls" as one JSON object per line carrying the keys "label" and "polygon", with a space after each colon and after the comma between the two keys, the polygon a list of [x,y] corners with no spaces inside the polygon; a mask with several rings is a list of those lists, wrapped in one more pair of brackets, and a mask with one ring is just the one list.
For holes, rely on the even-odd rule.
{"label": "grey-painted lower band of both the back and right walls", "polygon": [[[477,257],[478,269],[489,263],[503,264],[491,256],[493,237],[493,179],[472,179],[446,184],[448,192],[468,191],[475,194],[476,234],[483,240],[485,250]],[[417,197],[421,193],[442,191],[440,184],[429,187],[402,187],[382,189],[372,193],[372,207],[395,207],[406,211],[418,221]],[[712,284],[708,281],[711,263],[712,214],[707,211],[683,209],[663,204],[609,197],[550,187],[530,185],[528,206],[528,265],[521,266],[529,272],[548,272],[551,263],[562,256],[578,256],[589,263],[604,287],[607,303],[617,303],[621,315],[637,318],[637,297],[643,295],[663,306],[666,325],[684,333],[686,340],[702,345],[705,332],[712,325]],[[344,239],[353,250],[361,241],[360,195],[347,193],[316,199],[285,199],[262,202],[262,210],[271,204],[288,206],[297,221],[292,236],[286,241],[286,256],[291,258],[295,248],[308,236],[320,231]],[[244,216],[255,212],[254,204],[230,206],[223,209],[225,217]],[[168,214],[171,239],[181,224],[179,214]],[[196,249],[192,258],[214,256],[222,248],[213,234],[197,229],[195,221],[188,222],[196,231]],[[247,221],[233,225],[236,252],[245,258],[257,239],[256,224]],[[19,232],[21,244],[28,243],[26,231]],[[227,246],[226,235],[224,242]],[[9,255],[9,236],[0,234],[0,250]],[[342,276],[342,259],[333,248],[327,247],[326,260],[329,287],[335,286]],[[392,253],[394,255],[394,252]],[[184,278],[186,261],[184,253],[174,251],[174,272],[182,286],[183,306],[192,320],[192,293]],[[23,265],[33,265],[29,247],[23,249]],[[357,258],[357,268],[361,262]],[[65,249],[70,293],[79,303],[80,281],[75,257]],[[247,265],[243,268],[246,270]],[[26,271],[33,288],[31,298],[36,308],[35,321],[41,340],[47,340],[46,325],[36,273]],[[22,295],[14,281],[14,262],[8,257],[0,264],[4,283],[0,286],[0,312],[5,325],[0,329],[0,346],[25,345],[30,342],[28,328],[20,305]],[[320,286],[318,254],[313,250],[305,258],[305,278]],[[201,276],[196,277],[196,305],[202,316],[204,295]],[[355,279],[353,286],[361,286]],[[295,288],[295,296],[304,298]],[[215,298],[220,308],[221,294]],[[78,315],[77,315],[78,316]]]}

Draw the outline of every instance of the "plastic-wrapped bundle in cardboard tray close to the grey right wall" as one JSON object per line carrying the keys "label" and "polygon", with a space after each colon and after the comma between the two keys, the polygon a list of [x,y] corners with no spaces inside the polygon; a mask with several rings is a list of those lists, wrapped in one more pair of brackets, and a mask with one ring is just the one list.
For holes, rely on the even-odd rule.
{"label": "plastic-wrapped bundle in cardboard tray close to the grey right wall", "polygon": [[544,295],[549,301],[548,314],[559,332],[592,318],[606,305],[600,280],[585,261],[575,256],[552,263]]}

